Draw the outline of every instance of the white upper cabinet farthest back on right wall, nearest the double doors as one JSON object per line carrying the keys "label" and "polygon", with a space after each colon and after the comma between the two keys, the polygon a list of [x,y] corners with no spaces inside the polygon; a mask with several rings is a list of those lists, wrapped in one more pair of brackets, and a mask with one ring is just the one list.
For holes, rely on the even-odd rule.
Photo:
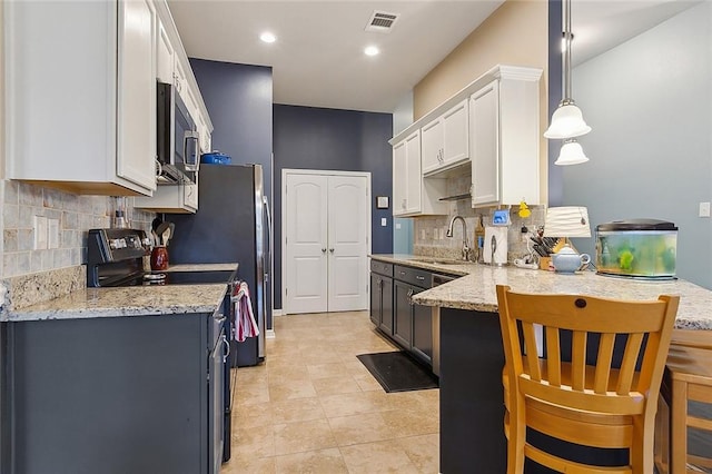
{"label": "white upper cabinet farthest back on right wall, nearest the double doors", "polygon": [[447,214],[438,200],[444,179],[424,178],[421,170],[421,130],[393,146],[393,215],[408,217]]}

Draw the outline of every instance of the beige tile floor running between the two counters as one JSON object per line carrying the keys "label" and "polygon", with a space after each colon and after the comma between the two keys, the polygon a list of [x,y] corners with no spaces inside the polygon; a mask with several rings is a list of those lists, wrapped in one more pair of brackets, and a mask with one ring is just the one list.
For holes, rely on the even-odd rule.
{"label": "beige tile floor running between the two counters", "polygon": [[439,391],[387,394],[356,358],[396,350],[366,312],[275,318],[257,367],[233,369],[221,474],[437,473]]}

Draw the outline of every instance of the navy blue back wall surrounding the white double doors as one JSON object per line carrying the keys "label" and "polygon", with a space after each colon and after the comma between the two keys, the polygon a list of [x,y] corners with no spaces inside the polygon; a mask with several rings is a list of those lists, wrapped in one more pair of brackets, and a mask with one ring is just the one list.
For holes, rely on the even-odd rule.
{"label": "navy blue back wall surrounding the white double doors", "polygon": [[372,251],[392,254],[393,209],[375,206],[376,196],[392,200],[392,113],[274,106],[275,308],[281,308],[281,170],[370,171]]}

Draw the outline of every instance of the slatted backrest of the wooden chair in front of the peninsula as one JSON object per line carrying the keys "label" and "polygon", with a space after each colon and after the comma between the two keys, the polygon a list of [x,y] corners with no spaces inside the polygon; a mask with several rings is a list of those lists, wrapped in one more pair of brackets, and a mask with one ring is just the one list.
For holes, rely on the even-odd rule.
{"label": "slatted backrest of the wooden chair in front of the peninsula", "polygon": [[[498,285],[497,298],[511,391],[574,409],[641,415],[652,408],[654,416],[679,297],[624,302],[525,295]],[[537,354],[536,325],[543,326],[542,358],[532,356]],[[567,332],[571,354],[562,350]],[[624,340],[622,356],[614,354],[616,340]]]}

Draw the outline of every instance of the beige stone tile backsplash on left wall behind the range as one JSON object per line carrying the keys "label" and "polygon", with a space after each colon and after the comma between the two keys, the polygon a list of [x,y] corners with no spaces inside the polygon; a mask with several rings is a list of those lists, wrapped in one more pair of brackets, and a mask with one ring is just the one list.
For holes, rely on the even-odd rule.
{"label": "beige stone tile backsplash on left wall behind the range", "polygon": [[[80,196],[21,181],[2,180],[3,278],[78,266],[87,263],[87,230],[110,227],[112,198]],[[150,231],[154,213],[132,209],[129,225]],[[59,221],[58,248],[34,250],[34,216]]]}

